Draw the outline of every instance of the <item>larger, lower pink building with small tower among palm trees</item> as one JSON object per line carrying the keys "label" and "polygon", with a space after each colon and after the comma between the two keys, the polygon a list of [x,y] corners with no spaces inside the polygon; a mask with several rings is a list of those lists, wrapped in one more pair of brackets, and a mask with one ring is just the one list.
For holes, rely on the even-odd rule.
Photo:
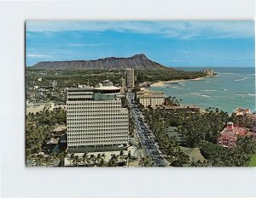
{"label": "larger, lower pink building with small tower among palm trees", "polygon": [[233,122],[228,122],[227,126],[220,133],[218,137],[218,144],[232,149],[236,147],[236,140],[240,135],[250,135],[249,129],[247,127],[237,127],[234,126]]}

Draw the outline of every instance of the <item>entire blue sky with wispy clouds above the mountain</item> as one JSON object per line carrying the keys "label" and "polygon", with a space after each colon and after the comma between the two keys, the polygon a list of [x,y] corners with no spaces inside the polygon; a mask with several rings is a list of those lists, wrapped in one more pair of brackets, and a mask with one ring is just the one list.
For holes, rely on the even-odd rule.
{"label": "entire blue sky with wispy clouds above the mountain", "polygon": [[26,66],[145,54],[172,67],[253,67],[253,20],[26,21]]}

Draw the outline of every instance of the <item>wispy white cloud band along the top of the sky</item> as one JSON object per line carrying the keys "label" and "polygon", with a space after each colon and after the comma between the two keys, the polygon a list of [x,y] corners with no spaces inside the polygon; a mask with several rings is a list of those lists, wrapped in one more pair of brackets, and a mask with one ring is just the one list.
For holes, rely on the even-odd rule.
{"label": "wispy white cloud band along the top of the sky", "polygon": [[165,37],[254,37],[253,20],[201,21],[28,21],[26,31],[120,31]]}

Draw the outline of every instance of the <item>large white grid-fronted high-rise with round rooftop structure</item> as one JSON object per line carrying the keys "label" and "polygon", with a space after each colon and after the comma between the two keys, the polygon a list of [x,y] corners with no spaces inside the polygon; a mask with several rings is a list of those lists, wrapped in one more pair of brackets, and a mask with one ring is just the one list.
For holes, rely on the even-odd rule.
{"label": "large white grid-fronted high-rise with round rooftop structure", "polygon": [[67,89],[67,147],[114,150],[128,144],[128,110],[120,88],[108,80],[96,88]]}

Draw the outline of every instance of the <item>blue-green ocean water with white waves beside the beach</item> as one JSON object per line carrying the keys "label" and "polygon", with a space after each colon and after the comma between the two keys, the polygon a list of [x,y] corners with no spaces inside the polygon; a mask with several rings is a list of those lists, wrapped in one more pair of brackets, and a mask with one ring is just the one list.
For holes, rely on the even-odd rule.
{"label": "blue-green ocean water with white waves beside the beach", "polygon": [[[177,68],[184,71],[200,71],[206,68]],[[182,105],[197,105],[202,109],[217,108],[232,113],[236,107],[255,111],[255,68],[213,68],[217,76],[195,81],[166,82],[163,86],[150,87],[162,90],[167,96],[182,99]]]}

